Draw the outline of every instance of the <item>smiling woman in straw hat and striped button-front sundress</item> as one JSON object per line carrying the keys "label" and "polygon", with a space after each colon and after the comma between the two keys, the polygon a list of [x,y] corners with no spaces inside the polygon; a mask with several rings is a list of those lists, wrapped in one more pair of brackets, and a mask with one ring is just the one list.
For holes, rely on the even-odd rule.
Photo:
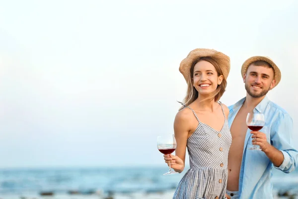
{"label": "smiling woman in straw hat and striped button-front sundress", "polygon": [[180,64],[188,89],[174,121],[176,155],[164,155],[164,160],[181,173],[187,147],[190,169],[173,199],[225,198],[232,138],[228,108],[218,100],[224,94],[229,69],[229,57],[211,49],[195,49]]}

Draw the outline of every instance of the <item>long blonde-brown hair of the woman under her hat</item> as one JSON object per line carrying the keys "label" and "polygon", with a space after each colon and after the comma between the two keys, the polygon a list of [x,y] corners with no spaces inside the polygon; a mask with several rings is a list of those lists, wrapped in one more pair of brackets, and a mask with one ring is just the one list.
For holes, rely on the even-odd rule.
{"label": "long blonde-brown hair of the woman under her hat", "polygon": [[[218,73],[218,77],[223,75],[222,68],[211,57],[201,57],[201,58],[196,59],[190,67],[190,77],[187,82],[187,92],[186,92],[186,96],[183,100],[185,106],[188,106],[189,104],[194,102],[199,97],[199,92],[193,86],[193,74],[194,74],[195,65],[202,60],[207,61],[214,66],[214,68],[216,69],[216,71]],[[214,99],[215,101],[220,100],[221,97],[224,95],[225,87],[226,87],[226,79],[224,78],[224,75],[223,75],[222,83],[220,85],[218,85],[217,89],[205,100],[212,100],[212,99]],[[203,101],[205,101],[205,100],[203,100]],[[184,106],[182,106],[179,110],[181,110],[183,108],[184,108]]]}

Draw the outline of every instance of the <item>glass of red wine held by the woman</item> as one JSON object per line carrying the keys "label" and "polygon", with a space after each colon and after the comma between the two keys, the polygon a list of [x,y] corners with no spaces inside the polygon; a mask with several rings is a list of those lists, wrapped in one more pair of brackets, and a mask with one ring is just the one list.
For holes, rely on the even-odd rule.
{"label": "glass of red wine held by the woman", "polygon": [[[176,145],[176,139],[173,134],[157,136],[157,149],[165,155],[170,155],[171,153],[173,153],[176,149]],[[171,163],[169,163],[169,171],[163,175],[171,175],[177,173],[178,172],[175,172],[171,169]]]}

